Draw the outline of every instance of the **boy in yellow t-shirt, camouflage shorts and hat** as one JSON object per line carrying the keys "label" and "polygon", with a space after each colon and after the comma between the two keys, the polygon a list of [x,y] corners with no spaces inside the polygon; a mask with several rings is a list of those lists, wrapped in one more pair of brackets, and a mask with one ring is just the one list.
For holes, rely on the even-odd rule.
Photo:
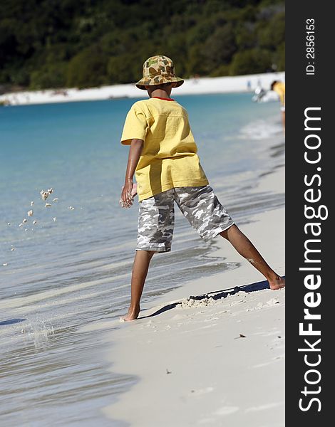
{"label": "boy in yellow t-shirt, camouflage shorts and hat", "polygon": [[187,111],[170,97],[172,88],[182,83],[184,80],[176,77],[170,58],[148,58],[143,64],[143,78],[136,86],[147,90],[149,99],[133,104],[123,128],[121,143],[130,145],[130,150],[120,204],[133,204],[135,172],[140,204],[131,301],[123,320],[135,320],[139,315],[140,297],[153,254],[170,251],[175,201],[202,238],[220,234],[267,278],[271,289],[284,287],[284,279],[234,225],[208,185]]}

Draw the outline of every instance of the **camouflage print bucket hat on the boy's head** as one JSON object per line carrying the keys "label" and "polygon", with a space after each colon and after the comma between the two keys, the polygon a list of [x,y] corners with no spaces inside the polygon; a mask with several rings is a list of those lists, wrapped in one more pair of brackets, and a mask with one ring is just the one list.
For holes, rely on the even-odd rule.
{"label": "camouflage print bucket hat on the boy's head", "polygon": [[184,83],[184,80],[176,77],[172,59],[168,56],[151,56],[143,64],[143,78],[136,83],[136,86],[145,90],[145,86],[162,85],[163,83],[175,83],[173,87],[177,88]]}

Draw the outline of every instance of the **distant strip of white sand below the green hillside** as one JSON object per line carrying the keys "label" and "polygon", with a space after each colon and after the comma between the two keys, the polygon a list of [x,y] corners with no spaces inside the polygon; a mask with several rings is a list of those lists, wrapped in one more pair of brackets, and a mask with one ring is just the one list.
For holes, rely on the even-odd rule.
{"label": "distant strip of white sand below the green hillside", "polygon": [[[185,80],[185,83],[177,88],[176,95],[195,95],[200,93],[230,93],[254,90],[259,83],[265,90],[273,80],[285,79],[285,73],[263,73],[254,75],[237,75],[234,77],[215,77]],[[247,82],[251,88],[247,88]],[[58,93],[57,93],[58,92]],[[139,90],[134,84],[112,85],[101,88],[78,90],[66,89],[66,95],[59,90],[36,90],[31,92],[6,93],[0,95],[0,102],[9,102],[11,105],[46,104],[50,102],[70,102],[86,100],[108,100],[120,97],[148,97],[145,90]]]}

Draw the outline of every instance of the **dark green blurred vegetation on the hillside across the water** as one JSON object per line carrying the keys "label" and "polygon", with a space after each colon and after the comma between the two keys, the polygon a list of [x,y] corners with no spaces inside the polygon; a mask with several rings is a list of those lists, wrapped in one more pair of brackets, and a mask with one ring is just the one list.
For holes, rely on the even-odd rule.
{"label": "dark green blurred vegetation on the hillside across the water", "polygon": [[0,88],[138,80],[165,54],[178,75],[284,70],[284,1],[2,0]]}

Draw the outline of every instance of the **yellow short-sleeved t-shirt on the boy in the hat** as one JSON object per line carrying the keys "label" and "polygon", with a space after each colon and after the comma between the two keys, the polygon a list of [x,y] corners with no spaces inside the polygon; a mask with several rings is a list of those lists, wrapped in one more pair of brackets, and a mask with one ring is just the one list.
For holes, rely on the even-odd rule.
{"label": "yellow short-sleeved t-shirt on the boy in the hat", "polygon": [[135,177],[138,200],[180,186],[207,185],[185,108],[152,97],[135,102],[125,119],[121,143],[143,139]]}

